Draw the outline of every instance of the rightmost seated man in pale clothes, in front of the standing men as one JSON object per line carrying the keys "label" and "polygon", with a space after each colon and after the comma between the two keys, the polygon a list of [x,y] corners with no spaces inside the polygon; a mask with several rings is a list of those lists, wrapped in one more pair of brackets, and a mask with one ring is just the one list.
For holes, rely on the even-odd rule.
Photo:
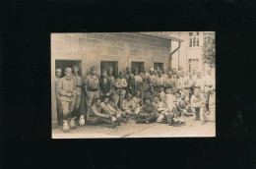
{"label": "rightmost seated man in pale clothes, in front of the standing men", "polygon": [[205,111],[206,111],[206,99],[203,94],[200,94],[200,89],[195,88],[195,94],[191,97],[191,107],[194,112],[194,120],[201,121],[201,124],[204,125],[206,122]]}

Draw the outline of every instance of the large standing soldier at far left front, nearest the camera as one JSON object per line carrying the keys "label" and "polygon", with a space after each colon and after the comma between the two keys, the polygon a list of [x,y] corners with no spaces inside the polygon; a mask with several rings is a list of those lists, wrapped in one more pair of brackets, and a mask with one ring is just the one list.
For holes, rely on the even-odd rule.
{"label": "large standing soldier at far left front, nearest the camera", "polygon": [[68,119],[71,117],[71,113],[74,110],[76,92],[75,84],[71,80],[72,69],[65,69],[65,76],[59,80],[57,85],[57,92],[59,94],[59,100],[61,103],[63,113],[63,132],[68,132],[70,127],[68,125]]}

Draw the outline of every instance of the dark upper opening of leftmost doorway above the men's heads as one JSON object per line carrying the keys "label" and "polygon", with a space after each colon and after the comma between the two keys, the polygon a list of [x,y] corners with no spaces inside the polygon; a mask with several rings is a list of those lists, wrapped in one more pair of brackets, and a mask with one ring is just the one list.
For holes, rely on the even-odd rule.
{"label": "dark upper opening of leftmost doorway above the men's heads", "polygon": [[61,72],[62,72],[61,77],[64,77],[64,75],[65,75],[64,71],[66,68],[72,69],[72,67],[74,65],[78,65],[78,67],[79,67],[78,74],[80,76],[82,76],[82,61],[80,61],[80,60],[55,60],[55,69],[57,69],[57,68],[61,69]]}

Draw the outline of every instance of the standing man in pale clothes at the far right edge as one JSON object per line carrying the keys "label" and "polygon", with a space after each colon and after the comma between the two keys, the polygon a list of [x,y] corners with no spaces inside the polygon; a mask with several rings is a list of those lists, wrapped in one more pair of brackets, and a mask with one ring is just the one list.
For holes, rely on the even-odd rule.
{"label": "standing man in pale clothes at the far right edge", "polygon": [[209,114],[209,100],[210,100],[210,95],[211,92],[214,90],[214,81],[212,80],[211,77],[211,69],[207,70],[207,75],[202,79],[202,84],[201,84],[201,91],[205,93],[205,98],[206,98],[206,111],[207,115]]}

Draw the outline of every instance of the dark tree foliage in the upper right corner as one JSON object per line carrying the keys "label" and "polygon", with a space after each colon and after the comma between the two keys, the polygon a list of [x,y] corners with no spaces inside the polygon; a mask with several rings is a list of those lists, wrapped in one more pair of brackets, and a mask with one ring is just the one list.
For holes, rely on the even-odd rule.
{"label": "dark tree foliage in the upper right corner", "polygon": [[216,64],[216,37],[215,32],[204,33],[203,45],[203,61],[211,68],[215,68]]}

